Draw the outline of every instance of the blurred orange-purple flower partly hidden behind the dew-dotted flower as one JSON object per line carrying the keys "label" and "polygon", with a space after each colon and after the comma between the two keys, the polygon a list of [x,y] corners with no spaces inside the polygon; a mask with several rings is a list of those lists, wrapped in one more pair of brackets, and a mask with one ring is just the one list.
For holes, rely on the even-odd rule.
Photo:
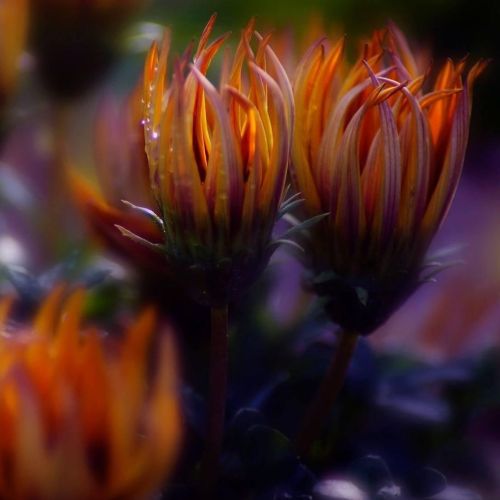
{"label": "blurred orange-purple flower partly hidden behind the dew-dotted flower", "polygon": [[76,168],[69,171],[69,181],[74,201],[101,244],[138,270],[169,275],[163,256],[123,238],[115,227],[126,225],[141,238],[155,243],[163,239],[154,223],[123,203],[125,199],[138,205],[153,203],[141,123],[141,91],[138,86],[121,106],[108,98],[98,111],[94,144],[100,189]]}

